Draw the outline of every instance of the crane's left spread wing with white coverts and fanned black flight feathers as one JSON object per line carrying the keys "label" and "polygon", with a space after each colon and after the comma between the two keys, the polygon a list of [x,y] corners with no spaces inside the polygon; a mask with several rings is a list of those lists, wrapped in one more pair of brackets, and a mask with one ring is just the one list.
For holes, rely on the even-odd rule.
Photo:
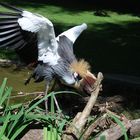
{"label": "crane's left spread wing with white coverts and fanned black flight feathers", "polygon": [[37,60],[48,49],[56,51],[57,42],[51,21],[7,4],[0,5],[12,10],[0,12],[0,48],[15,49],[27,63]]}

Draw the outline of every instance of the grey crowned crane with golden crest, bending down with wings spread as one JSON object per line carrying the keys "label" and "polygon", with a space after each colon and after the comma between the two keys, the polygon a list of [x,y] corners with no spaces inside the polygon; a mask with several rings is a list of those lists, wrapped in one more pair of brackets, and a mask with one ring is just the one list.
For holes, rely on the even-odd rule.
{"label": "grey crowned crane with golden crest, bending down with wings spread", "polygon": [[14,49],[27,63],[38,62],[26,84],[32,77],[36,82],[45,80],[45,94],[54,78],[77,88],[78,76],[84,77],[89,65],[76,59],[73,44],[87,25],[75,26],[56,37],[49,19],[4,3],[0,5],[11,10],[0,12],[0,48]]}

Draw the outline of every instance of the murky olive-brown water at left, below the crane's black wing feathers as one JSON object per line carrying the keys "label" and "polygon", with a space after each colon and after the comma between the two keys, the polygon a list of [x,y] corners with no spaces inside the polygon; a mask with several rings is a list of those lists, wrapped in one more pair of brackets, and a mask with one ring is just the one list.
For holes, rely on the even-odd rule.
{"label": "murky olive-brown water at left, below the crane's black wing feathers", "polygon": [[[8,78],[7,86],[13,88],[11,96],[15,96],[22,92],[32,93],[44,91],[44,82],[34,83],[34,80],[32,79],[28,85],[24,85],[26,78],[28,78],[31,73],[32,70],[29,70],[28,68],[16,68],[15,66],[0,67],[0,83],[2,83],[5,77]],[[32,97],[33,95],[13,98],[11,103],[26,102]]]}

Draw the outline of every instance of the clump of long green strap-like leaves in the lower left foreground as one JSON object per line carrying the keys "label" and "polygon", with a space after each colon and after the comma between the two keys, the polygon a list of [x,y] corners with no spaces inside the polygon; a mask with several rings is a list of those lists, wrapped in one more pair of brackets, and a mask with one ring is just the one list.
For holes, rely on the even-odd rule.
{"label": "clump of long green strap-like leaves in the lower left foreground", "polygon": [[[34,121],[44,124],[44,140],[60,140],[64,126],[69,122],[69,117],[63,115],[60,108],[56,111],[54,97],[62,93],[77,93],[68,91],[52,92],[39,101],[31,102],[26,106],[23,104],[9,105],[7,102],[12,88],[6,87],[6,83],[7,78],[3,80],[0,86],[0,113],[2,114],[0,117],[0,124],[2,124],[0,126],[0,140],[18,138],[21,132]],[[44,109],[40,108],[39,105],[49,97],[51,98],[50,113],[46,115]]]}

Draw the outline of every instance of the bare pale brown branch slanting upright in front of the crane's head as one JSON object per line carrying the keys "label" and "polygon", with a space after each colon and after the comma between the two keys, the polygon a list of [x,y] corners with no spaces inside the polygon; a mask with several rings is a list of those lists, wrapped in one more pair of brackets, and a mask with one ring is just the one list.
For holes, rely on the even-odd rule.
{"label": "bare pale brown branch slanting upright in front of the crane's head", "polygon": [[75,137],[77,139],[80,137],[80,134],[82,133],[82,131],[85,127],[85,124],[91,113],[91,110],[92,110],[93,106],[95,105],[97,96],[98,96],[100,88],[101,88],[102,80],[103,80],[102,73],[98,73],[97,80],[94,84],[94,90],[91,93],[89,101],[87,102],[83,112],[77,113],[77,115],[73,119],[73,122],[66,129],[66,131],[62,137],[63,140],[74,140]]}

